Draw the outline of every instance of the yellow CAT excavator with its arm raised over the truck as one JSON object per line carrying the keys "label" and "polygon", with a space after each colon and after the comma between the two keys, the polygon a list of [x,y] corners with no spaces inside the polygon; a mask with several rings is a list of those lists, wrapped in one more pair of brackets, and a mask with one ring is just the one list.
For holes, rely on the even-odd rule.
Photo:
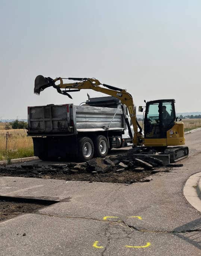
{"label": "yellow CAT excavator with its arm raised over the truck", "polygon": [[[74,83],[64,83],[64,79],[74,80]],[[55,84],[60,81],[59,84]],[[133,147],[140,152],[160,152],[160,154],[169,154],[170,162],[179,161],[188,157],[188,147],[185,145],[184,124],[181,120],[177,121],[174,99],[159,99],[148,101],[145,107],[144,115],[144,135],[136,118],[136,109],[133,98],[125,89],[120,89],[108,84],[101,84],[95,78],[61,78],[52,79],[38,75],[35,78],[34,93],[40,95],[40,92],[47,87],[54,87],[58,93],[68,96],[69,93],[78,92],[81,89],[92,89],[107,95],[118,98],[121,101],[121,107],[126,105],[131,123],[133,125],[134,135],[130,129],[128,119],[125,117],[129,135],[133,141]],[[64,89],[64,90],[61,90]],[[144,107],[140,106],[139,111],[143,112]]]}

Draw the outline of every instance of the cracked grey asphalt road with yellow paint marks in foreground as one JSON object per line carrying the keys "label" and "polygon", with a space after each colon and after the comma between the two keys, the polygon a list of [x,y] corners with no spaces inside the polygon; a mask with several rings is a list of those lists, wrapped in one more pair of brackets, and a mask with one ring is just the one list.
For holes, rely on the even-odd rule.
{"label": "cracked grey asphalt road with yellow paint marks in foreground", "polygon": [[[186,135],[186,145],[183,167],[151,174],[149,182],[1,176],[4,204],[8,197],[40,204],[1,220],[1,255],[201,255],[201,213],[182,192],[201,172],[201,131]],[[41,200],[54,204],[41,207]]]}

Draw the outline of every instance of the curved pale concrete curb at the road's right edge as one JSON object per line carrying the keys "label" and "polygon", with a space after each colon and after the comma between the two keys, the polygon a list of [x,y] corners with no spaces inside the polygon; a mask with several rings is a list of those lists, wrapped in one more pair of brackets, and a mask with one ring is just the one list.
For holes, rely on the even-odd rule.
{"label": "curved pale concrete curb at the road's right edge", "polygon": [[199,212],[201,212],[201,172],[191,175],[183,187],[186,200]]}

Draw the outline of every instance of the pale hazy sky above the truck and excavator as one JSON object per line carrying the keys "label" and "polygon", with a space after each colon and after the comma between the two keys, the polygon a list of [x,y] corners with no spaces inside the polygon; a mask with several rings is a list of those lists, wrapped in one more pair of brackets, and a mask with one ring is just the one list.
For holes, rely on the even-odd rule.
{"label": "pale hazy sky above the truck and excavator", "polygon": [[0,0],[0,116],[103,96],[36,96],[39,74],[95,77],[127,89],[137,107],[174,98],[178,112],[201,111],[200,13],[200,0]]}

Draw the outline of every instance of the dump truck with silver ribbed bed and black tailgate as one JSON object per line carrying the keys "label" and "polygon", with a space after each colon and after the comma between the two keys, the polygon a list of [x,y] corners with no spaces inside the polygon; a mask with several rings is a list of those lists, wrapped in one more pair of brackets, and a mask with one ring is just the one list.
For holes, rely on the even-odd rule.
{"label": "dump truck with silver ribbed bed and black tailgate", "polygon": [[[41,160],[105,157],[108,150],[132,145],[118,99],[89,98],[84,105],[28,107],[28,136]],[[130,121],[130,120],[129,120]],[[131,126],[133,133],[133,128]]]}

